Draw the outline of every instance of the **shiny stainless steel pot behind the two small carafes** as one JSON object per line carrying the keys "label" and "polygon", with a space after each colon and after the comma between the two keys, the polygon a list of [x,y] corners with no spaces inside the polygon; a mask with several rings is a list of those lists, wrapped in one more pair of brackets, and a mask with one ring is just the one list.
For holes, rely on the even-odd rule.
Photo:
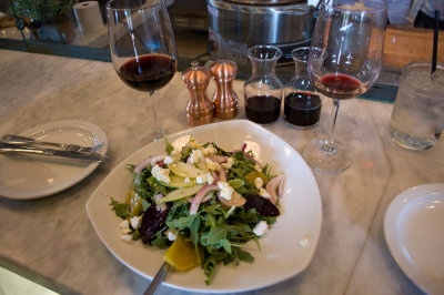
{"label": "shiny stainless steel pot behind the two small carafes", "polygon": [[208,0],[208,11],[212,60],[249,67],[250,47],[273,44],[291,61],[292,49],[311,42],[314,9],[303,0]]}

